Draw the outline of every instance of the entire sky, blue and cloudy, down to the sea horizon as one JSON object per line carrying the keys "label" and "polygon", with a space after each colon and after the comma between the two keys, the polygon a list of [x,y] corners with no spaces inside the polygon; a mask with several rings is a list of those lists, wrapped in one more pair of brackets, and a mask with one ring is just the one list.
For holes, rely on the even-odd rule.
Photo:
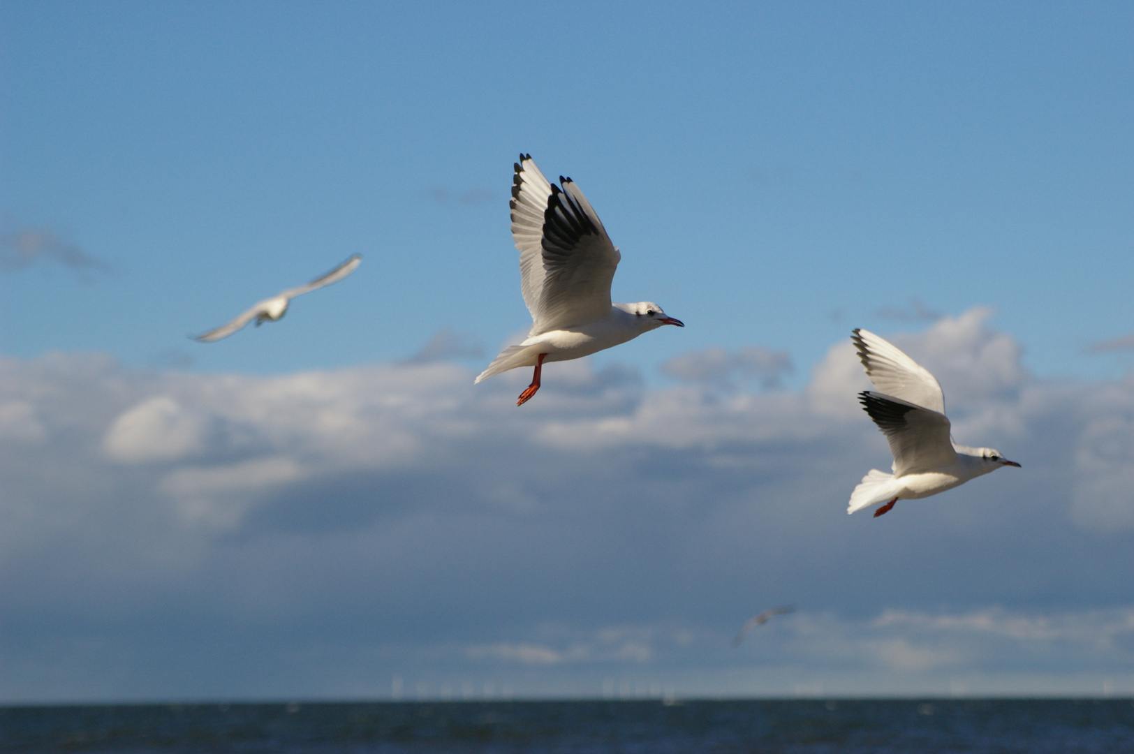
{"label": "entire sky, blue and cloudy, down to the sea horizon", "polygon": [[[18,700],[41,679],[35,698],[375,695],[393,676],[430,693],[463,677],[593,693],[640,671],[641,684],[703,693],[824,683],[1085,693],[1107,672],[1134,691],[1128,638],[1115,639],[1118,655],[1083,644],[1059,667],[1035,660],[1051,645],[1017,647],[1018,667],[993,672],[985,634],[933,644],[924,633],[984,626],[972,630],[1023,641],[1012,626],[1033,621],[1072,626],[1057,639],[1038,628],[1036,642],[1073,642],[1126,625],[1117,576],[1076,564],[1132,565],[1120,490],[1134,460],[1115,406],[1126,405],[1134,355],[1083,353],[1134,332],[1132,32],[1125,3],[5,3],[0,441],[11,475],[0,505],[12,536],[33,544],[5,561],[17,605],[6,622],[23,658],[11,677],[23,680],[0,694]],[[655,300],[687,327],[549,367],[548,395],[516,413],[508,396],[526,376],[468,383],[530,324],[507,213],[519,152],[586,193],[621,248],[616,300]],[[20,234],[39,239],[34,259],[18,255]],[[355,253],[364,261],[352,278],[296,300],[280,323],[212,345],[185,337]],[[833,554],[794,560],[878,544],[854,537],[877,536],[868,524],[879,522],[848,522],[843,506],[858,476],[885,466],[885,442],[854,406],[861,375],[823,371],[854,327],[913,333],[911,347],[949,374],[954,418],[981,435],[958,440],[988,437],[1025,466],[949,493],[951,507],[925,503],[932,519],[899,508],[903,536],[932,528],[936,554],[885,588],[865,582],[869,598],[822,576],[838,569]],[[447,328],[463,344],[448,362],[397,366]],[[476,346],[482,356],[469,355]],[[767,392],[736,370],[675,376],[674,359],[716,347],[786,354],[793,370]],[[398,370],[420,370],[420,384],[401,386],[409,372]],[[823,382],[828,373],[841,376]],[[846,388],[848,413],[824,413],[826,384]],[[259,408],[220,398],[227,390]],[[323,401],[315,424],[273,416],[293,392]],[[1060,403],[1038,407],[1035,396]],[[398,401],[420,401],[429,429]],[[561,443],[577,410],[645,427],[601,464],[607,488],[514,478],[514,456],[544,468],[531,443],[587,468],[585,447]],[[655,414],[669,423],[651,423]],[[755,426],[734,426],[743,421]],[[331,426],[380,449],[344,460]],[[393,440],[383,455],[386,426],[408,455]],[[494,455],[465,444],[474,430]],[[438,448],[435,474],[418,466],[418,443]],[[686,465],[675,460],[694,446]],[[795,460],[780,468],[786,454]],[[59,488],[67,461],[94,486]],[[721,474],[735,464],[744,471]],[[636,485],[657,508],[631,499]],[[785,523],[778,506],[793,494],[816,506],[803,518],[816,530]],[[331,501],[325,519],[316,501]],[[1023,534],[1005,510],[1023,517]],[[112,536],[100,547],[68,520]],[[479,544],[459,536],[466,525]],[[784,537],[760,540],[782,560],[747,559],[744,536],[758,530]],[[722,554],[699,556],[714,536]],[[168,571],[151,539],[177,553]],[[908,554],[911,541],[887,552]],[[39,569],[61,547],[90,575],[98,618],[67,578]],[[441,554],[418,562],[431,548]],[[1055,562],[1039,568],[1052,548]],[[950,551],[968,553],[964,585],[982,588],[942,576]],[[311,601],[297,604],[325,609],[324,624],[234,607],[286,592],[278,574],[290,571],[273,566],[323,556],[372,574],[371,586],[383,564],[416,564],[416,576],[357,602],[366,584],[339,591],[335,566],[316,569]],[[492,585],[483,601],[450,556],[483,565],[467,576]],[[600,566],[629,575],[604,590]],[[120,574],[135,571],[153,576],[127,579],[116,602]],[[983,588],[989,571],[1000,576]],[[765,686],[737,680],[731,659],[705,649],[747,617],[731,607],[750,594],[737,574],[748,586],[787,579],[753,587],[753,610],[807,601],[769,633],[789,667],[745,655],[747,678]],[[208,588],[234,578],[223,599]],[[686,581],[672,604],[650,596],[675,578]],[[509,615],[517,600],[535,607]],[[169,604],[185,610],[172,624]],[[442,616],[467,634],[431,633]],[[358,621],[383,627],[370,642]],[[145,627],[145,642],[128,626]],[[804,638],[835,635],[860,649],[835,656]],[[183,643],[198,647],[184,668],[146,670],[147,652]],[[252,645],[271,647],[263,667],[220,670]],[[104,680],[98,647],[128,660],[118,681]],[[881,659],[866,668],[852,656]],[[665,672],[648,672],[651,662]],[[293,675],[269,677],[273,663]],[[324,666],[363,670],[336,686]]]}

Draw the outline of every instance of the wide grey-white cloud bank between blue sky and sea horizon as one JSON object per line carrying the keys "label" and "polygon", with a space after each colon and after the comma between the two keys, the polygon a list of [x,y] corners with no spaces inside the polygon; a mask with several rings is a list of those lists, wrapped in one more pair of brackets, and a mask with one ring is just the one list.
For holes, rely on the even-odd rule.
{"label": "wide grey-white cloud bank between blue sky and sea horizon", "polygon": [[668,389],[555,364],[522,408],[432,357],[0,359],[0,696],[1134,692],[1134,380],[1038,380],[990,314],[887,337],[1024,468],[880,519],[849,340],[797,392],[753,346]]}

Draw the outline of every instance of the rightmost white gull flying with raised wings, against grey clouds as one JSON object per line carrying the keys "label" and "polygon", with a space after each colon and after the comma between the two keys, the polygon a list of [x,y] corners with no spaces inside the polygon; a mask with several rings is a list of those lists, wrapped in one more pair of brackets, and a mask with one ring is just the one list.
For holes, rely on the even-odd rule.
{"label": "rightmost white gull flying with raised wings, against grey clouds", "polygon": [[855,330],[850,340],[880,391],[864,390],[858,400],[890,443],[894,473],[870,469],[850,493],[848,514],[885,502],[874,511],[878,518],[898,500],[928,498],[1001,466],[1019,468],[991,448],[953,442],[945,395],[925,367],[873,332]]}

